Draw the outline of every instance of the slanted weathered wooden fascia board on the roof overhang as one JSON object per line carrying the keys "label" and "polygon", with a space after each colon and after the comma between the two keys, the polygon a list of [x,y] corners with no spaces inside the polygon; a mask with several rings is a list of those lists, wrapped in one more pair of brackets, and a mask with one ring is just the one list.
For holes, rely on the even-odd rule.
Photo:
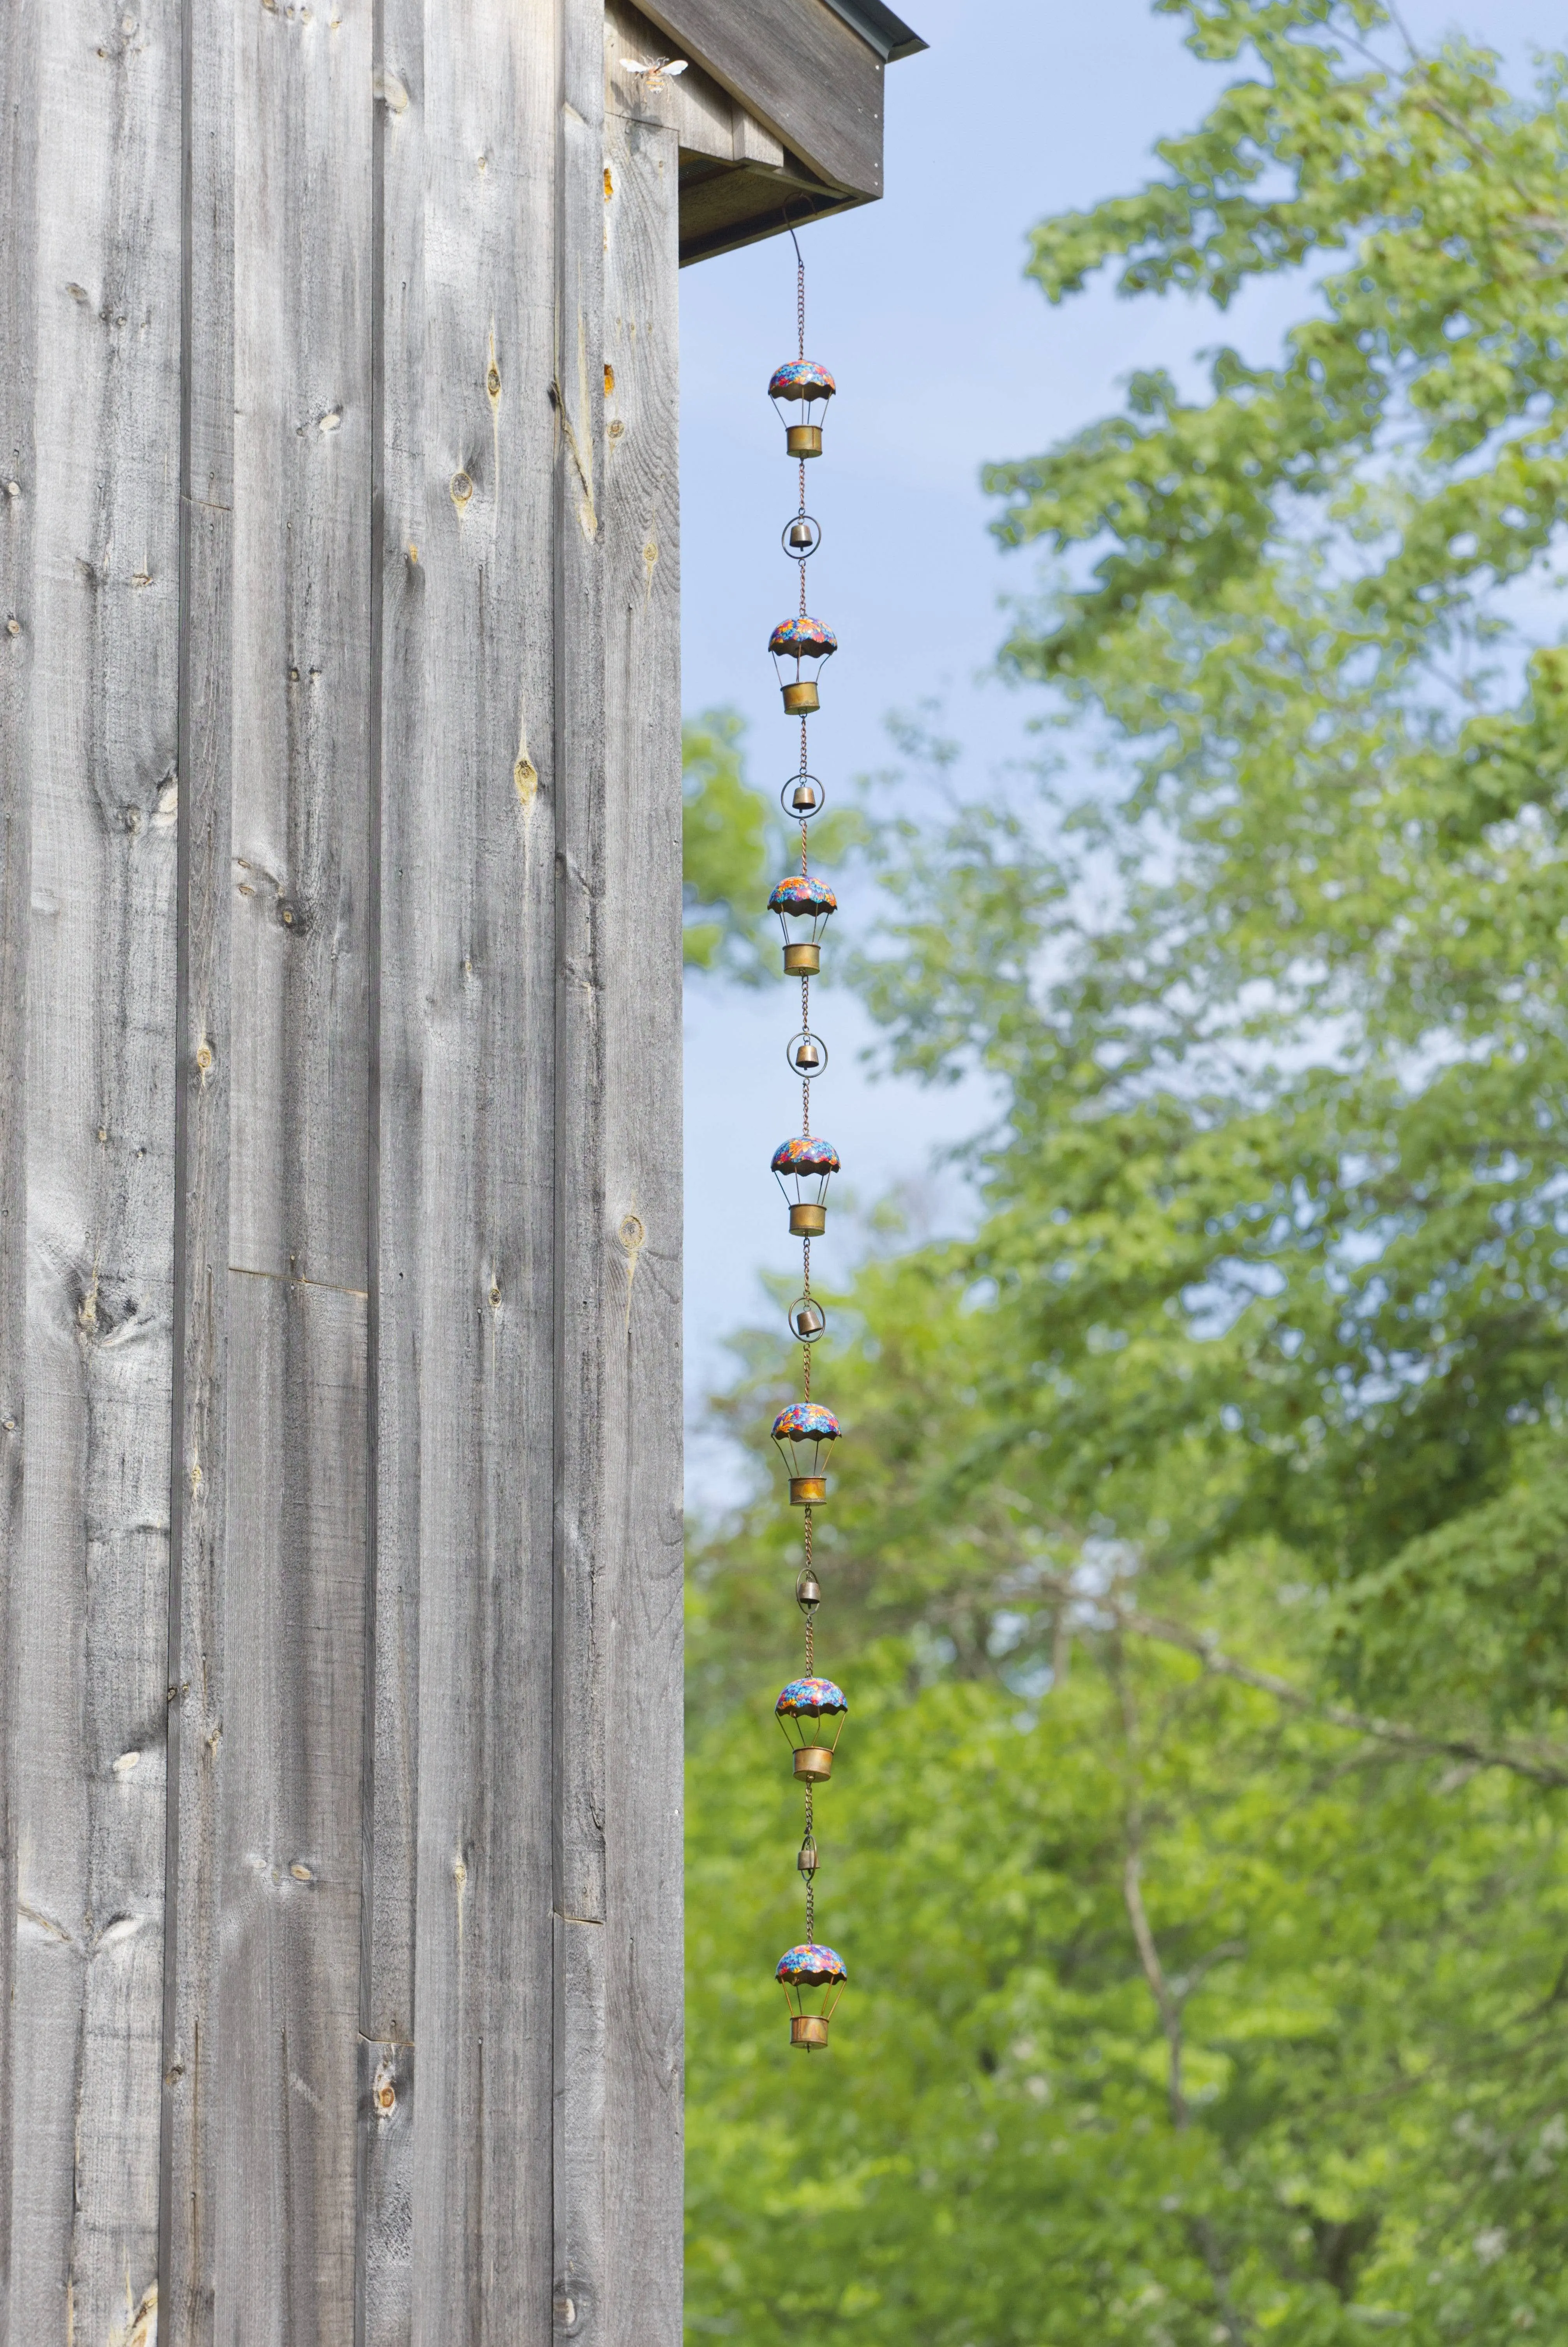
{"label": "slanted weathered wooden fascia board on the roof overhang", "polygon": [[643,14],[819,178],[883,192],[883,59],[826,0],[643,0]]}

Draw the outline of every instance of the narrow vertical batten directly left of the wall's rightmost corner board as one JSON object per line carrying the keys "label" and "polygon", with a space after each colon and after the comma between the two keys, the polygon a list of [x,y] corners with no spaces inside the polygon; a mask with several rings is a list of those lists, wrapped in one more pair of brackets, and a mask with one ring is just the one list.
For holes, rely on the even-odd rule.
{"label": "narrow vertical batten directly left of the wall's rightmost corner board", "polygon": [[[561,0],[556,143],[554,2307],[603,2335],[603,5]],[[629,943],[629,939],[627,939]]]}

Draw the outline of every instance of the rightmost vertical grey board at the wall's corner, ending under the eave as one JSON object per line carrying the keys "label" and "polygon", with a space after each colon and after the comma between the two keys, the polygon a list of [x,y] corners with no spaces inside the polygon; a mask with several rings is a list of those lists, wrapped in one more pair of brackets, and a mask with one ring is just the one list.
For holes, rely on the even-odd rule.
{"label": "rightmost vertical grey board at the wall's corner, ending under the eave", "polygon": [[[624,77],[622,77],[624,80]],[[613,89],[613,84],[610,84]],[[617,94],[620,96],[620,94]],[[629,103],[627,103],[629,99]],[[606,2347],[681,2340],[678,134],[606,113]]]}

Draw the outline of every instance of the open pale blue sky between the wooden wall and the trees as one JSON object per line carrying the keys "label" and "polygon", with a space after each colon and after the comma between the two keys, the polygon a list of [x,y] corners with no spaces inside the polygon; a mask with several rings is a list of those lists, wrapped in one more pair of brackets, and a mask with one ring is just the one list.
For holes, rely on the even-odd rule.
{"label": "open pale blue sky between the wooden wall and the trees", "polygon": [[[800,239],[807,354],[840,390],[810,472],[824,526],[810,601],[840,641],[812,721],[812,765],[829,789],[890,765],[887,711],[937,697],[944,730],[965,744],[967,784],[984,789],[1033,746],[1030,697],[986,674],[1005,631],[1000,603],[1026,594],[1033,573],[988,535],[981,465],[1030,455],[1120,404],[1136,366],[1174,366],[1216,340],[1270,354],[1300,289],[1265,286],[1223,322],[1178,300],[1120,303],[1103,286],[1049,310],[1023,279],[1030,223],[1138,185],[1153,141],[1192,124],[1221,73],[1188,56],[1178,21],[1145,0],[906,0],[904,14],[932,47],[887,73],[887,195]],[[1401,14],[1422,45],[1455,23],[1483,33],[1519,75],[1533,49],[1568,40],[1561,0],[1404,0]],[[793,357],[793,298],[789,242],[681,277],[683,702],[737,706],[751,728],[751,779],[770,786],[793,763],[765,657],[768,629],[793,608],[793,566],[779,549],[793,476],[763,387]],[[847,904],[843,927],[864,913]],[[962,1190],[927,1169],[986,1120],[986,1096],[871,1082],[857,1061],[869,1026],[838,988],[822,988],[812,1023],[833,1054],[815,1122],[836,1141],[859,1206],[904,1183],[922,1227],[951,1227]],[[728,1375],[723,1338],[772,1317],[758,1274],[798,1260],[768,1174],[798,1117],[789,1033],[782,979],[761,995],[688,986],[692,1504],[735,1490],[732,1462],[697,1427],[702,1392]],[[829,1281],[854,1246],[852,1218],[831,1218],[819,1251]]]}

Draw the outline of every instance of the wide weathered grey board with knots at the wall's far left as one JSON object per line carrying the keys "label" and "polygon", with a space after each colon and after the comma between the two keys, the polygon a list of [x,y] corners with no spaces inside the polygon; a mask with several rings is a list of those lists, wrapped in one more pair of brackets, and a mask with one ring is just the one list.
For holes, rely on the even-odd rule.
{"label": "wide weathered grey board with knots at the wall's far left", "polygon": [[[181,26],[12,14],[35,108],[26,798],[26,1486],[7,1643],[9,2338],[155,2302],[169,1561]],[[21,96],[21,92],[12,92]],[[26,331],[26,329],[23,329]],[[9,495],[9,493],[7,493]],[[21,519],[21,516],[19,516]],[[14,631],[12,631],[14,622]],[[9,763],[9,760],[7,760]],[[26,1101],[26,1110],[23,1103]],[[9,1120],[7,1120],[9,1122]],[[14,1300],[14,1291],[12,1291]],[[12,1342],[16,1331],[9,1331]],[[7,1932],[12,1920],[7,1917]]]}

